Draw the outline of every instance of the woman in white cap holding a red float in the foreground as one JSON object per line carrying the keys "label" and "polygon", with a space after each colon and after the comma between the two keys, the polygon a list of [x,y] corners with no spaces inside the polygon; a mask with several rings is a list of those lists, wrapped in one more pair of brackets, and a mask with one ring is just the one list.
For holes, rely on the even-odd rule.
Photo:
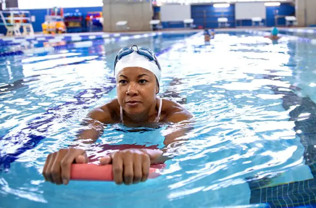
{"label": "woman in white cap holding a red float in the foreground", "polygon": [[[169,145],[184,136],[190,129],[193,115],[181,105],[159,99],[161,68],[156,55],[147,48],[122,48],[118,52],[114,73],[117,82],[117,99],[93,109],[86,120],[88,128],[78,135],[84,144],[94,143],[102,135],[105,124],[124,123],[129,127],[151,126],[157,122],[173,123],[175,130],[165,136],[165,147],[153,149],[124,149],[100,159],[101,165],[112,164],[117,184],[144,182],[148,178],[150,164],[163,163]],[[86,151],[79,148],[61,149],[47,156],[43,176],[46,181],[67,185],[72,163],[87,163]]]}

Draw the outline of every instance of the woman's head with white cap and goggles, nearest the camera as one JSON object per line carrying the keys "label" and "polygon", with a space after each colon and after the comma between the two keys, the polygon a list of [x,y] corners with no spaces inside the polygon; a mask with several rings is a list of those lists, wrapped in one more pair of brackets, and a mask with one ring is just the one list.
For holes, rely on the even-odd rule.
{"label": "woman's head with white cap and goggles, nearest the camera", "polygon": [[122,48],[115,58],[114,75],[119,104],[127,113],[142,113],[155,102],[161,68],[150,49],[136,45]]}

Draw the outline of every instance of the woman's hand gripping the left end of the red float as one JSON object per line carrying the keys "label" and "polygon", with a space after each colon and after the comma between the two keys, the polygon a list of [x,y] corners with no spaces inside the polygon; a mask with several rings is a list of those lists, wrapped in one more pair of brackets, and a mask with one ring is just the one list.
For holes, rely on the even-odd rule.
{"label": "woman's hand gripping the left end of the red float", "polygon": [[88,156],[82,149],[61,149],[47,156],[43,176],[46,181],[60,185],[67,185],[70,180],[70,166],[72,163],[87,163]]}

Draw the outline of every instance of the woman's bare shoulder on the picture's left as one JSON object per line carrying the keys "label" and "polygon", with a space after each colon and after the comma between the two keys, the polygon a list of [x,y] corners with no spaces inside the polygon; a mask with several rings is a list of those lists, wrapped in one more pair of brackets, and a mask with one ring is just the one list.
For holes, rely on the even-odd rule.
{"label": "woman's bare shoulder on the picture's left", "polygon": [[117,99],[91,110],[88,117],[103,123],[115,123],[119,121],[120,104]]}

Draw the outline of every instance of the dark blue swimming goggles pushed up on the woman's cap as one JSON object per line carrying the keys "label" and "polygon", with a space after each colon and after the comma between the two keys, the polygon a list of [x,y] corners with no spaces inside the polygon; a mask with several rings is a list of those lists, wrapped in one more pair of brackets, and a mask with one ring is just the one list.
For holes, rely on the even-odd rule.
{"label": "dark blue swimming goggles pushed up on the woman's cap", "polygon": [[124,56],[131,54],[132,52],[137,52],[138,54],[145,56],[150,61],[155,61],[156,65],[158,66],[158,69],[161,71],[158,59],[154,52],[152,52],[150,49],[145,47],[138,47],[137,45],[132,45],[131,47],[124,47],[122,48],[118,54],[115,57],[114,61],[114,68],[116,66],[116,63]]}

